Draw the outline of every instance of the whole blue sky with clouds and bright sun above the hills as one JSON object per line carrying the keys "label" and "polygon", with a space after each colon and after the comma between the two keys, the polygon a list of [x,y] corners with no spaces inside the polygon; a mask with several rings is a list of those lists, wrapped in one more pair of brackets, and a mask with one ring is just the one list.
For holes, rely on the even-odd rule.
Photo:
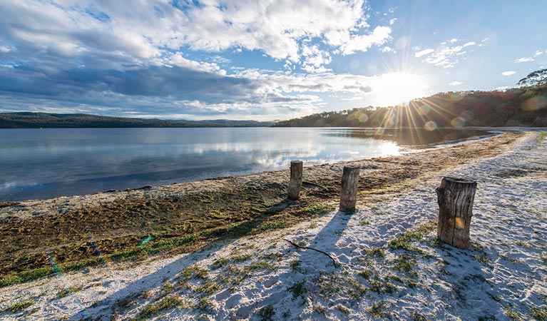
{"label": "whole blue sky with clouds and bright sun above the hills", "polygon": [[547,1],[1,0],[0,112],[284,120],[504,90]]}

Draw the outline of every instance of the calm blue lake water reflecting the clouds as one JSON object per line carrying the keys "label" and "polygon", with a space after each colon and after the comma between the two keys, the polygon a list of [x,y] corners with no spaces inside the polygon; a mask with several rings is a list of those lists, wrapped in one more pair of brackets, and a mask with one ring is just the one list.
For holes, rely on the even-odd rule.
{"label": "calm blue lake water reflecting the clouds", "polygon": [[314,165],[397,155],[405,142],[397,143],[396,137],[408,137],[386,132],[385,139],[374,139],[370,133],[350,128],[0,129],[0,201],[258,173],[289,168],[296,159]]}

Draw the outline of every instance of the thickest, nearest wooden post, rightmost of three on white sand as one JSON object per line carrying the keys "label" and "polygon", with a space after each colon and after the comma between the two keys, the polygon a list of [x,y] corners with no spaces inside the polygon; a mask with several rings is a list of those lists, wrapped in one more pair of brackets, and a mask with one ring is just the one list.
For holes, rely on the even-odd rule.
{"label": "thickest, nearest wooden post, rightmost of three on white sand", "polygon": [[445,177],[436,188],[439,203],[437,238],[456,248],[469,248],[469,226],[473,216],[476,182]]}

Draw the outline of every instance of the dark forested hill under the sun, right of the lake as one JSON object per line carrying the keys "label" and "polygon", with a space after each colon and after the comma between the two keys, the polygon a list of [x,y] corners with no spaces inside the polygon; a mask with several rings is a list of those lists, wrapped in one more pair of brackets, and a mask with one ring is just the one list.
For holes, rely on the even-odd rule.
{"label": "dark forested hill under the sun, right of the lake", "polygon": [[411,101],[409,106],[382,108],[369,106],[347,111],[315,113],[302,118],[281,121],[275,123],[274,126],[547,127],[547,83],[512,88],[507,91],[437,93],[427,98]]}

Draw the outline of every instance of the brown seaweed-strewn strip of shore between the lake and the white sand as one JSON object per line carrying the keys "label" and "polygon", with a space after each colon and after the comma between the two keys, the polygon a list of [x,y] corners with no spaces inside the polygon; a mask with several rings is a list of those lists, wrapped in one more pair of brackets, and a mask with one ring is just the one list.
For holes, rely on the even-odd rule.
{"label": "brown seaweed-strewn strip of shore between the lake and the white sand", "polygon": [[307,208],[329,202],[335,207],[344,165],[361,166],[359,197],[374,198],[374,193],[408,187],[412,179],[499,154],[526,135],[511,132],[419,153],[306,167],[301,198],[295,202],[287,200],[288,169],[17,202],[0,208],[0,233],[6,244],[0,250],[0,279],[48,268],[51,255],[66,268],[86,260],[93,263],[94,244],[104,255],[125,258],[123,253],[138,253],[136,245],[149,236],[154,238],[150,246],[167,243],[173,249],[173,242],[186,243],[191,237],[178,248],[188,252],[221,238],[255,233],[264,225],[292,225],[314,215]]}

